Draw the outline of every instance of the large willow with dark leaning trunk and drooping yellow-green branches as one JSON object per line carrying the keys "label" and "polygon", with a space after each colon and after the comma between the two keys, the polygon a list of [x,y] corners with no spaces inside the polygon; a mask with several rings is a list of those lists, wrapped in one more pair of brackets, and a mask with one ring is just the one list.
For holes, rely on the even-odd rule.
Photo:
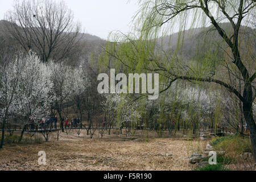
{"label": "large willow with dark leaning trunk and drooping yellow-green branches", "polygon": [[[161,92],[177,80],[226,88],[242,102],[256,160],[253,115],[256,2],[144,0],[140,5],[139,13],[134,16],[134,33],[113,34],[106,47],[108,55],[125,65],[127,72],[159,73],[165,85]],[[177,30],[176,36],[167,36]],[[188,40],[193,47],[190,56],[184,49]],[[234,84],[234,80],[241,80],[241,84]]]}

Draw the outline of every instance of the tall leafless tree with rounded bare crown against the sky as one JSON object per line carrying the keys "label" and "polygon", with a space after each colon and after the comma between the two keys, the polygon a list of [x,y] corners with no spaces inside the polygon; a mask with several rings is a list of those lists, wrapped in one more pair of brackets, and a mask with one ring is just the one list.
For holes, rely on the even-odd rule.
{"label": "tall leafless tree with rounded bare crown against the sky", "polygon": [[43,62],[68,57],[82,35],[80,23],[73,22],[73,13],[63,1],[16,1],[5,19],[7,32],[25,51],[38,53]]}

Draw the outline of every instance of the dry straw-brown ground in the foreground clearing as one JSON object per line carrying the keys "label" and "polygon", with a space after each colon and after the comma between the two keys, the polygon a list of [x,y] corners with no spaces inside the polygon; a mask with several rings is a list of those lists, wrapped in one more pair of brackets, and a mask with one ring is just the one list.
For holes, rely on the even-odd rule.
{"label": "dry straw-brown ground in the foreground clearing", "polygon": [[[40,135],[40,134],[37,134]],[[9,144],[0,150],[0,170],[191,170],[188,163],[193,151],[205,148],[206,141],[174,138],[127,138],[105,134],[93,139],[82,131],[68,135],[51,133],[49,142]],[[46,152],[47,164],[39,165],[39,151]],[[167,156],[166,154],[172,154]]]}

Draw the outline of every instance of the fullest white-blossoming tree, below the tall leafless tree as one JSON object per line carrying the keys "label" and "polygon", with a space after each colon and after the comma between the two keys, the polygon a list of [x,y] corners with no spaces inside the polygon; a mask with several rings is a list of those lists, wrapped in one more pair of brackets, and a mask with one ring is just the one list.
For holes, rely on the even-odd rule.
{"label": "fullest white-blossoming tree, below the tall leafless tree", "polygon": [[[23,61],[24,69],[20,75],[16,107],[19,115],[25,118],[20,140],[28,122],[33,118],[39,124],[42,118],[49,117],[54,97],[51,72],[46,64],[33,52],[28,52]],[[48,137],[47,137],[48,140]]]}

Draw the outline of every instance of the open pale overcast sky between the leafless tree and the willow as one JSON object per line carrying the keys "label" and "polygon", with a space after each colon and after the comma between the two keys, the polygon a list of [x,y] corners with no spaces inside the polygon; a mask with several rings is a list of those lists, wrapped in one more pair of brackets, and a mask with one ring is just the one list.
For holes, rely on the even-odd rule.
{"label": "open pale overcast sky between the leafless tree and the willow", "polygon": [[[60,1],[60,0],[56,0]],[[64,0],[75,19],[88,34],[107,39],[113,30],[129,31],[133,15],[139,9],[137,0]],[[0,19],[11,10],[14,0],[0,0]]]}

